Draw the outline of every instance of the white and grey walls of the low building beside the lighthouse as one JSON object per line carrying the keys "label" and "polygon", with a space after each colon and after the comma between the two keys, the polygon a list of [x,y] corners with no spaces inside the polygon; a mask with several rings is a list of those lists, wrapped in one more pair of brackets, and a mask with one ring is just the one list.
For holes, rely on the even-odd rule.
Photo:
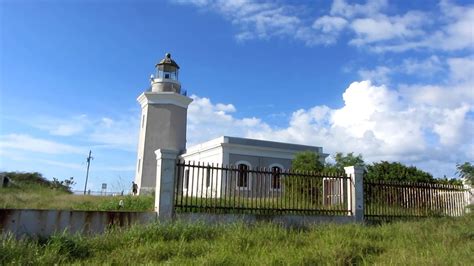
{"label": "white and grey walls of the low building beside the lighthouse", "polygon": [[[291,161],[300,151],[310,150],[320,155],[321,161],[327,154],[321,147],[295,145],[271,141],[260,141],[234,137],[220,137],[190,147],[181,156],[186,162],[201,165],[217,165],[236,167],[240,163],[249,165],[250,169],[267,168],[266,174],[248,174],[248,186],[238,187],[238,171],[184,169],[178,178],[178,186],[189,196],[221,197],[231,194],[247,195],[248,197],[278,196],[284,190],[284,182],[280,180],[280,188],[273,185],[271,168],[278,166],[282,170],[291,168]],[[189,176],[189,177],[188,177]],[[210,176],[207,178],[207,176]],[[282,178],[283,176],[281,176]],[[209,182],[209,184],[208,184]],[[187,184],[187,185],[185,185]],[[184,189],[187,187],[187,189]]]}

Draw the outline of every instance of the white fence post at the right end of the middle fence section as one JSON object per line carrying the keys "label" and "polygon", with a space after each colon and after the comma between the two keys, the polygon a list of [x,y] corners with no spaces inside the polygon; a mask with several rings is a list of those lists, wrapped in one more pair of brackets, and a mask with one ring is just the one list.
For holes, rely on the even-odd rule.
{"label": "white fence post at the right end of the middle fence section", "polygon": [[349,182],[348,204],[357,223],[364,222],[364,168],[359,166],[344,167]]}

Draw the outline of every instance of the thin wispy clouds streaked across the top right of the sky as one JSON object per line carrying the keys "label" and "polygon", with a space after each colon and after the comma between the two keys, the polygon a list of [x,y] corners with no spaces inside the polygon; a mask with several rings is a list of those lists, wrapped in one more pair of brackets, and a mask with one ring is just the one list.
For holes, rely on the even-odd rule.
{"label": "thin wispy clouds streaked across the top right of the sky", "polygon": [[[374,52],[441,51],[474,48],[474,6],[442,0],[437,10],[393,13],[386,0],[348,3],[333,0],[330,10],[311,17],[303,3],[257,0],[170,0],[222,15],[238,28],[238,41],[294,38],[313,46],[333,44],[340,33],[354,37],[349,44]],[[293,5],[292,5],[293,4]],[[309,7],[309,6],[308,6]],[[314,8],[315,6],[311,6]],[[324,10],[324,6],[317,6]]]}

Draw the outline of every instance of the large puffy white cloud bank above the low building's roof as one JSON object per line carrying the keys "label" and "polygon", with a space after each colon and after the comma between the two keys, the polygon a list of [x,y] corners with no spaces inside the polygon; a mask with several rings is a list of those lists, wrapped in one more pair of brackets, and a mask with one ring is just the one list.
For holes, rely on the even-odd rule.
{"label": "large puffy white cloud bank above the low building's roof", "polygon": [[[353,82],[343,94],[343,107],[297,110],[284,128],[258,118],[235,118],[218,111],[219,104],[193,96],[188,139],[196,144],[220,135],[250,137],[322,146],[330,153],[362,153],[368,161],[415,165],[439,161],[454,167],[456,162],[474,159],[469,150],[474,145],[469,137],[474,133],[468,116],[472,105],[420,104],[414,96],[370,81]],[[451,174],[446,168],[427,170]]]}

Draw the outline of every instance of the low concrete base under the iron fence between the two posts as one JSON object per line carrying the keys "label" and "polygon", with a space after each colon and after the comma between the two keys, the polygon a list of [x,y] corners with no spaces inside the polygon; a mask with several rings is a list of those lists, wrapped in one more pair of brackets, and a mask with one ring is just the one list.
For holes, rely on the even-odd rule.
{"label": "low concrete base under the iron fence between the two posts", "polygon": [[209,213],[176,213],[176,221],[204,222],[208,224],[243,222],[271,222],[285,227],[302,228],[320,223],[346,224],[355,222],[354,216],[307,216],[307,215],[256,215],[256,214],[209,214]]}

